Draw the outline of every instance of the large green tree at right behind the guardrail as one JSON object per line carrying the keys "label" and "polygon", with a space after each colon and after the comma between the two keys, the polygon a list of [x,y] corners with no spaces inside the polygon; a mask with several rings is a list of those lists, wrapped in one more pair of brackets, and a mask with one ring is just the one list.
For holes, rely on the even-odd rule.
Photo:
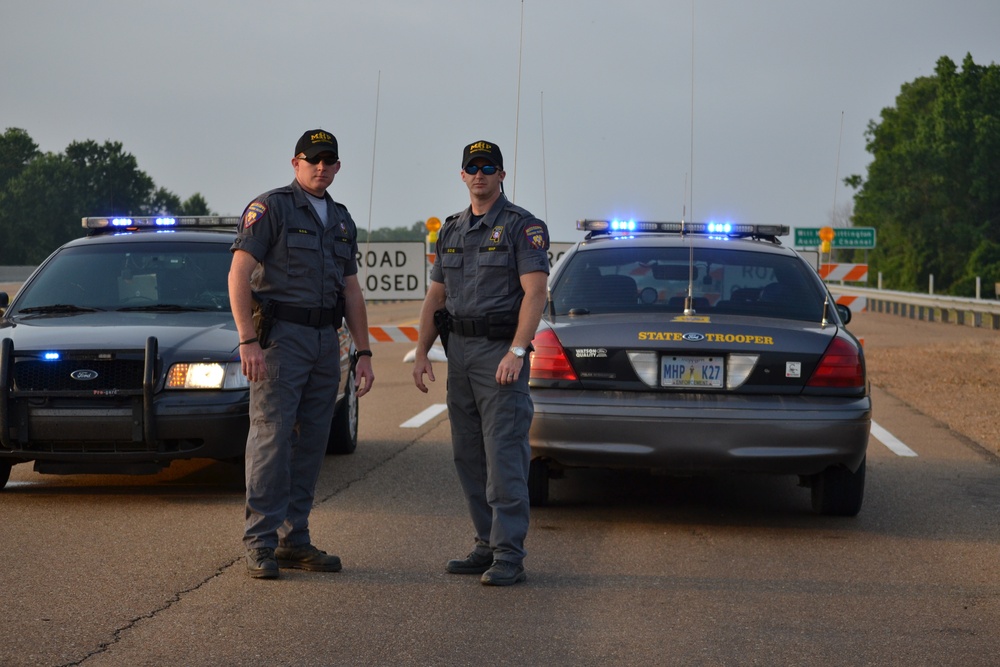
{"label": "large green tree at right behind the guardrail", "polygon": [[942,57],[868,124],[867,178],[845,183],[857,189],[854,223],[878,230],[869,263],[886,287],[920,291],[933,274],[939,291],[971,294],[969,272],[993,266],[971,263],[1000,241],[998,110],[1000,66],[967,55],[959,71]]}

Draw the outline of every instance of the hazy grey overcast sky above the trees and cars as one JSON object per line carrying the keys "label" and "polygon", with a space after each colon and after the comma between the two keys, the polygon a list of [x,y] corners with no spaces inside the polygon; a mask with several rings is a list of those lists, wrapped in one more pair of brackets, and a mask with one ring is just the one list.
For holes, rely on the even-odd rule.
{"label": "hazy grey overcast sky above the trees and cars", "polygon": [[121,142],[222,214],[320,127],[363,228],[467,206],[478,139],[555,241],[585,217],[818,227],[868,122],[966,53],[1000,62],[997,0],[2,0],[0,130]]}

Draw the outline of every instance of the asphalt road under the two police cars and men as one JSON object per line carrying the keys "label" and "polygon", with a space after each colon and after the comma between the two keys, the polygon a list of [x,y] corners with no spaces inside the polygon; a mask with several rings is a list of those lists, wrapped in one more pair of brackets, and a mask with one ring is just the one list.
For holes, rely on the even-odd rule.
{"label": "asphalt road under the two police cars and men", "polygon": [[533,513],[527,583],[498,589],[444,572],[471,530],[446,413],[401,427],[444,402],[444,365],[421,394],[411,348],[376,346],[358,451],[321,474],[312,531],[340,573],[249,579],[232,466],[16,466],[0,665],[997,664],[998,459],[893,395],[874,390],[896,451],[872,439],[856,518],[812,514],[794,478],[577,472]]}

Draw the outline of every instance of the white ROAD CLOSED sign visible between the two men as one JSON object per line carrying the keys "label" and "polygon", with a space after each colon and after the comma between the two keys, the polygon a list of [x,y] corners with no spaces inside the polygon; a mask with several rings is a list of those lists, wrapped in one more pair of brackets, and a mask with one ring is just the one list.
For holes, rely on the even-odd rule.
{"label": "white ROAD CLOSED sign visible between the two men", "polygon": [[358,280],[366,300],[421,300],[427,285],[427,247],[420,241],[359,243]]}

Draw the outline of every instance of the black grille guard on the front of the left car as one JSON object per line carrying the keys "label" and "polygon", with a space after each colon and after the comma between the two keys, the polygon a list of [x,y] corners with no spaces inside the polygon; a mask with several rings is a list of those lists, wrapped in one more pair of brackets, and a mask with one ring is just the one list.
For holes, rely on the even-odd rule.
{"label": "black grille guard on the front of the left car", "polygon": [[[152,445],[156,442],[156,419],[153,413],[153,393],[156,389],[156,359],[159,345],[155,336],[146,339],[145,350],[133,350],[133,353],[143,354],[143,372],[141,389],[116,389],[115,396],[141,397],[142,401],[134,408],[135,421],[141,426],[133,430],[133,441]],[[128,350],[122,350],[119,354],[127,354]],[[0,445],[10,450],[20,449],[18,445],[27,445],[31,440],[31,434],[27,430],[27,419],[19,419],[17,429],[17,441],[11,437],[13,419],[19,413],[17,410],[18,399],[21,398],[92,398],[93,391],[20,391],[14,388],[14,359],[17,356],[34,356],[34,353],[18,354],[14,350],[14,341],[4,338],[0,341],[0,386],[3,387],[3,396],[0,396]]]}

